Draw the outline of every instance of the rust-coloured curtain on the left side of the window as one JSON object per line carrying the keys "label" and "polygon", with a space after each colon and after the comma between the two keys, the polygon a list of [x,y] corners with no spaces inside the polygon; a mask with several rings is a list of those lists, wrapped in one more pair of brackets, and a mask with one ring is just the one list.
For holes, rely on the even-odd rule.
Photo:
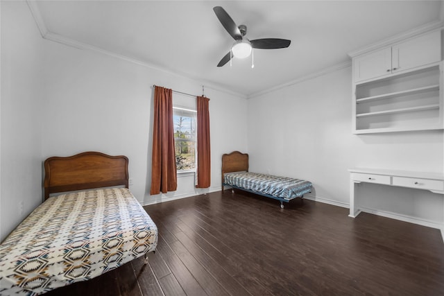
{"label": "rust-coloured curtain on the left side of the window", "polygon": [[154,90],[153,155],[151,190],[155,195],[176,191],[176,153],[174,150],[173,91],[164,87]]}

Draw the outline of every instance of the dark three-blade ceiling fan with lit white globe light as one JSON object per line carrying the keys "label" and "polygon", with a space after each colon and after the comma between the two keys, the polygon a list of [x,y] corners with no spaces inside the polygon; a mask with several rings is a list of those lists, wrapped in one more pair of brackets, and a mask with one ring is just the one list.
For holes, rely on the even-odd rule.
{"label": "dark three-blade ceiling fan with lit white globe light", "polygon": [[215,6],[213,8],[216,17],[221,21],[223,28],[236,40],[230,50],[217,64],[217,67],[222,67],[229,62],[232,56],[236,58],[247,58],[252,49],[284,49],[290,46],[291,40],[279,39],[279,38],[264,38],[257,40],[248,40],[245,35],[247,33],[247,27],[245,25],[237,26],[228,13],[221,8],[221,6]]}

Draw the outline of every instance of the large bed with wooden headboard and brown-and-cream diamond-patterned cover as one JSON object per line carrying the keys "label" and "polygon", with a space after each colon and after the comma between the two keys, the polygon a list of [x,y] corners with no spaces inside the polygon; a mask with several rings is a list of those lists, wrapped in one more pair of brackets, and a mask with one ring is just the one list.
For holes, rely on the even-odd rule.
{"label": "large bed with wooden headboard and brown-and-cream diamond-patterned cover", "polygon": [[0,295],[37,295],[147,262],[157,227],[128,189],[127,157],[50,157],[44,170],[44,202],[0,245]]}

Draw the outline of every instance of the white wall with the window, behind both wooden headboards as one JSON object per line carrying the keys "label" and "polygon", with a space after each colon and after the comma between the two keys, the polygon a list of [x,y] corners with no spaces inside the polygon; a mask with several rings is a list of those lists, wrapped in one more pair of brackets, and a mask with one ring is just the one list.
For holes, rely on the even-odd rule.
{"label": "white wall with the window, behind both wooden headboards", "polygon": [[[185,177],[185,181],[182,176],[178,191],[151,196],[152,86],[201,94],[202,85],[55,42],[46,42],[45,52],[44,158],[87,150],[126,155],[130,159],[130,178],[133,179],[130,189],[140,202],[149,204],[219,190],[221,155],[231,150],[246,150],[246,99],[206,87],[205,96],[211,98],[210,189],[198,191],[194,189],[194,177]],[[234,105],[237,107],[233,108]],[[230,121],[227,121],[227,114]]]}

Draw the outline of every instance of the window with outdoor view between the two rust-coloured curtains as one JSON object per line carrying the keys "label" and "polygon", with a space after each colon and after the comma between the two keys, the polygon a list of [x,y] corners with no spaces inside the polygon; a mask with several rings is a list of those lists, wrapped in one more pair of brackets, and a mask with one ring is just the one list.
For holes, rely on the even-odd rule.
{"label": "window with outdoor view between the two rust-coloured curtains", "polygon": [[196,169],[196,110],[173,107],[174,145],[178,171]]}

